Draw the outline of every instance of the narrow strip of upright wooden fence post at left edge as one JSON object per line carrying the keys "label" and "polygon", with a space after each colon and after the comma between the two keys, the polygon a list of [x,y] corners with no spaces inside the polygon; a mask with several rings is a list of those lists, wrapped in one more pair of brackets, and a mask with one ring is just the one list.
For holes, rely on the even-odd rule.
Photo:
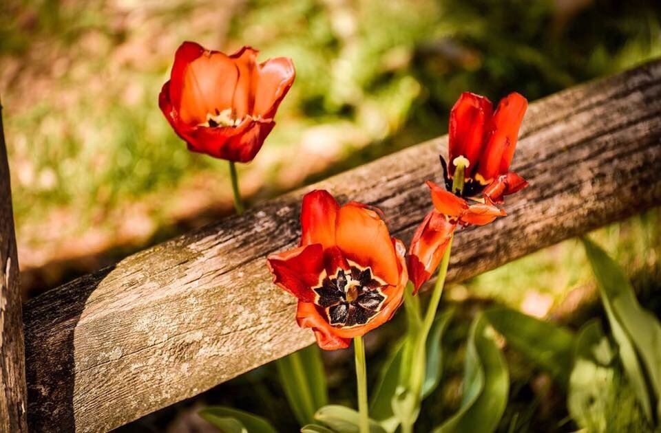
{"label": "narrow strip of upright wooden fence post at left edge", "polygon": [[25,348],[12,188],[0,104],[0,432],[27,432]]}

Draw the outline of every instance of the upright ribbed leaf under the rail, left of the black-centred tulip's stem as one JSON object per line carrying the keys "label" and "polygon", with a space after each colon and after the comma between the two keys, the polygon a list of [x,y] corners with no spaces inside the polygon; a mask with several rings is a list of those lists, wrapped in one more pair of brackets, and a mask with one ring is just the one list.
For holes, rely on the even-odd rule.
{"label": "upright ribbed leaf under the rail, left of the black-centred tulip's stem", "polygon": [[316,344],[278,359],[280,384],[300,425],[314,421],[317,409],[328,403],[324,364]]}

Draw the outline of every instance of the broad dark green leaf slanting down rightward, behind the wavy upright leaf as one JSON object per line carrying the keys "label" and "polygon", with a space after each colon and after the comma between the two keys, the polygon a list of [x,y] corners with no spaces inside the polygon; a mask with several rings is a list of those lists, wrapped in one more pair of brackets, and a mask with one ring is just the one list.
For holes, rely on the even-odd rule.
{"label": "broad dark green leaf slanting down rightward, behind the wavy upright leaf", "polygon": [[574,362],[574,334],[569,329],[503,307],[484,314],[508,344],[567,388]]}

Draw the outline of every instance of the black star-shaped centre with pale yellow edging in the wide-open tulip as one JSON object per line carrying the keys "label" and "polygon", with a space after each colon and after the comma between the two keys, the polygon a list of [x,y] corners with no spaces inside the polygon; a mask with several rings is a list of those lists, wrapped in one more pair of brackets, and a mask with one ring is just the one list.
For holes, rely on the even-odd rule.
{"label": "black star-shaped centre with pale yellow edging in the wide-open tulip", "polygon": [[328,323],[337,328],[364,325],[381,310],[386,300],[381,291],[385,285],[369,267],[352,265],[326,276],[322,285],[313,289],[317,293],[315,304],[324,309]]}

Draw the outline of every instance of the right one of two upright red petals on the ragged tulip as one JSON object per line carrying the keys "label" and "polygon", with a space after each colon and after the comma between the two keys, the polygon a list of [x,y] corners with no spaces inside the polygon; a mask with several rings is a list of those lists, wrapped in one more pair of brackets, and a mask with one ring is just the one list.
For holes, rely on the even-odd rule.
{"label": "right one of two upright red petals on the ragged tulip", "polygon": [[516,149],[518,129],[528,102],[518,93],[510,93],[501,100],[493,117],[487,122],[486,145],[478,167],[482,177],[490,181],[504,175]]}

